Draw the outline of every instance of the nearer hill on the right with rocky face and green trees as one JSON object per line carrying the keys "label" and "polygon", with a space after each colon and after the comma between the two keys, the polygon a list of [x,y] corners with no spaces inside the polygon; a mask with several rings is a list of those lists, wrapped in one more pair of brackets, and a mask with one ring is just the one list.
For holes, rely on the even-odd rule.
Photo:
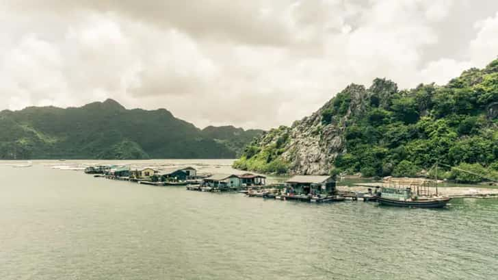
{"label": "nearer hill on the right with rocky face and green trees", "polygon": [[498,60],[446,86],[399,90],[393,81],[375,79],[369,88],[351,84],[292,127],[264,133],[234,166],[371,177],[414,176],[440,162],[494,174],[497,116]]}

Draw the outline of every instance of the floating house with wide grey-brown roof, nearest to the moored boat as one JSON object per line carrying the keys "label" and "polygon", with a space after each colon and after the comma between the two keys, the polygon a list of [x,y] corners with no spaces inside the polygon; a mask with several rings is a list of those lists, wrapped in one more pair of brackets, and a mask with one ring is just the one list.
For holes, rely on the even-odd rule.
{"label": "floating house with wide grey-brown roof, nearest to the moored boat", "polygon": [[290,194],[332,194],[335,192],[335,180],[330,176],[299,175],[286,182]]}

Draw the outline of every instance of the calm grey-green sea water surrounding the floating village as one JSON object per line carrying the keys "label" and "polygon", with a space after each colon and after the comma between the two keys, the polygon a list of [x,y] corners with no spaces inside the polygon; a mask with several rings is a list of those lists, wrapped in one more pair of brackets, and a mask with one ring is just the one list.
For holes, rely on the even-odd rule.
{"label": "calm grey-green sea water surrounding the floating village", "polygon": [[[229,173],[230,161],[199,164]],[[0,279],[498,279],[498,201],[316,205],[0,162]],[[223,171],[223,172],[222,172]]]}

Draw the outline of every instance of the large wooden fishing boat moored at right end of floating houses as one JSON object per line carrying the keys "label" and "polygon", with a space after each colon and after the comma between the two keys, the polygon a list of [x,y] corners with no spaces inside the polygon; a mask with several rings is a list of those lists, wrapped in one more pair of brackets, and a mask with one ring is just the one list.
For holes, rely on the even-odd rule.
{"label": "large wooden fishing boat moored at right end of floating houses", "polygon": [[[443,208],[451,198],[440,196],[437,191],[437,180],[430,181],[421,178],[389,178],[385,183],[389,186],[380,188],[377,202],[380,205],[413,207],[413,208]],[[435,184],[436,193],[430,192]]]}

